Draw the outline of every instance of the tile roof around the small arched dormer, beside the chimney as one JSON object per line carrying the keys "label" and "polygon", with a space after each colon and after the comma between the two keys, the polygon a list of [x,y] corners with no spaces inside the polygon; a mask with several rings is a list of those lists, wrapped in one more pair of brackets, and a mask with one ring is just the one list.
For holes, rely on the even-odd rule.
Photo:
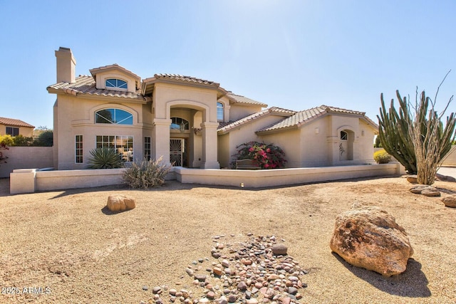
{"label": "tile roof around the small arched dormer, beside the chimney", "polygon": [[[51,92],[55,90],[55,92]],[[146,98],[138,93],[131,93],[118,90],[107,90],[95,88],[95,80],[89,75],[79,75],[75,83],[56,83],[48,86],[49,93],[58,91],[73,95],[93,95],[115,98],[128,98],[133,100],[145,101]]]}

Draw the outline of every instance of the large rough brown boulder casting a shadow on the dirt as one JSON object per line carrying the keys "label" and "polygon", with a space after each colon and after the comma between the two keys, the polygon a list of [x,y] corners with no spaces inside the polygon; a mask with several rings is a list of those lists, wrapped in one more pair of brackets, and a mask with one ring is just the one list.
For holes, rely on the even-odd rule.
{"label": "large rough brown boulder casting a shadow on the dirt", "polygon": [[339,214],[330,247],[347,263],[383,276],[403,273],[413,255],[403,227],[388,212],[374,206]]}

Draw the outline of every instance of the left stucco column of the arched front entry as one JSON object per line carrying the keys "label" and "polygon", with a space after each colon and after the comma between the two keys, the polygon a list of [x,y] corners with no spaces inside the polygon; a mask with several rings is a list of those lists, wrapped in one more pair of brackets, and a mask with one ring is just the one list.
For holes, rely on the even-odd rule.
{"label": "left stucco column of the arched front entry", "polygon": [[163,157],[165,164],[170,162],[170,125],[171,120],[155,118],[152,137],[152,159]]}

